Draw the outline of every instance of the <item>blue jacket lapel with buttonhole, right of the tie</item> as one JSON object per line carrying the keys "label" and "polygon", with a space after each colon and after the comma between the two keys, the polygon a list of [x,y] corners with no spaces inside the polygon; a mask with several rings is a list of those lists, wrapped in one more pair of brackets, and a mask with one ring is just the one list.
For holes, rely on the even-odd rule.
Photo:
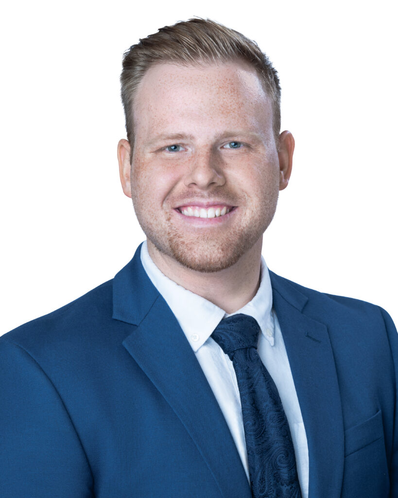
{"label": "blue jacket lapel with buttonhole, right of the tie", "polygon": [[309,497],[340,497],[344,429],[336,366],[327,327],[302,313],[308,300],[270,272],[273,305],[298,395],[309,453]]}

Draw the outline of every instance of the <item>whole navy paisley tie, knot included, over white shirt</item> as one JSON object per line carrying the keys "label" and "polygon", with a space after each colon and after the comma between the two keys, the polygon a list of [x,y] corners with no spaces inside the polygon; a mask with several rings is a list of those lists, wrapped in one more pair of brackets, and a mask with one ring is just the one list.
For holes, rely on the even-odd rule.
{"label": "whole navy paisley tie, knot included, over white shirt", "polygon": [[285,410],[257,353],[259,333],[254,318],[237,314],[221,320],[211,337],[235,369],[253,498],[301,498]]}

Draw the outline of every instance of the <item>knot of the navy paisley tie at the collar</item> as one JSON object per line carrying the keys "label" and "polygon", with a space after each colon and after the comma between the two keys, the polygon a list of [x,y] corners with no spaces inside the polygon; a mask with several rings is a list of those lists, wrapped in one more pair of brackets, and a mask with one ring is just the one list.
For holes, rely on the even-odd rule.
{"label": "knot of the navy paisley tie at the collar", "polygon": [[210,337],[232,360],[238,349],[257,349],[259,333],[260,326],[257,321],[249,315],[239,313],[221,320]]}

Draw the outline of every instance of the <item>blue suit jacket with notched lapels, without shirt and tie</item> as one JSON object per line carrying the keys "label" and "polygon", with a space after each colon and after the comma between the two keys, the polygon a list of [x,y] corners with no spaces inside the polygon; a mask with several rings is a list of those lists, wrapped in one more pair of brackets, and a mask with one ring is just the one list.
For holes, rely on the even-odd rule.
{"label": "blue suit jacket with notched lapels, without shirt and tie", "polygon": [[[251,497],[139,249],[113,280],[0,338],[1,498]],[[398,497],[391,318],[272,272],[271,281],[308,439],[309,497]]]}

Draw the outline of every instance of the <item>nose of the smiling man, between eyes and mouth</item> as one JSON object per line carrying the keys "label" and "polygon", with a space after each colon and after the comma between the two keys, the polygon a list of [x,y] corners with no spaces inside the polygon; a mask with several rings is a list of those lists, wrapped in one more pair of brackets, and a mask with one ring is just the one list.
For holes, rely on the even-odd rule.
{"label": "nose of the smiling man, between eyes and mouth", "polygon": [[224,185],[225,177],[222,165],[215,154],[201,153],[193,158],[184,183],[186,187],[197,187],[207,190],[212,187]]}

